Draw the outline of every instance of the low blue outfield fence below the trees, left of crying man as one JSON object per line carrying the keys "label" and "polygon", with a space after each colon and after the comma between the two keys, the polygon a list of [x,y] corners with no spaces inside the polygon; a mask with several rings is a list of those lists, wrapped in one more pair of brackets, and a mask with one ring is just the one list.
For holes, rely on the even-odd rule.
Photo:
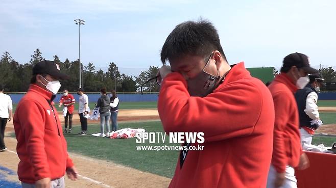
{"label": "low blue outfield fence below the trees, left of crying man", "polygon": [[[7,93],[11,98],[13,103],[18,103],[25,93]],[[74,95],[76,101],[79,99],[79,95],[77,93],[71,93]],[[58,102],[63,94],[57,94],[55,98],[55,102]],[[86,93],[89,97],[89,102],[97,102],[100,97],[100,93]],[[154,102],[158,99],[158,93],[117,93],[119,99],[123,102]]]}

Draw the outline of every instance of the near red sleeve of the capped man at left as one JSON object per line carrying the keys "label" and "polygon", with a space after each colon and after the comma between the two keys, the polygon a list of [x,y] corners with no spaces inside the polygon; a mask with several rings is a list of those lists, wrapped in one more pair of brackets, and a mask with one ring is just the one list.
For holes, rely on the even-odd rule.
{"label": "near red sleeve of the capped man at left", "polygon": [[[27,143],[27,152],[34,170],[36,180],[51,177],[47,156],[44,150],[44,122],[43,108],[33,101],[21,104],[20,114],[29,114],[20,121],[22,133]],[[23,117],[22,117],[23,118]]]}

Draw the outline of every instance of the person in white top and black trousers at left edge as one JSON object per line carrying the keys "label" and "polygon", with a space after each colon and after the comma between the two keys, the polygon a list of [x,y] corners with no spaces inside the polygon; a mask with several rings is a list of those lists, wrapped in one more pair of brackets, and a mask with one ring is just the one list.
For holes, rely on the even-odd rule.
{"label": "person in white top and black trousers at left edge", "polygon": [[13,104],[9,95],[4,94],[4,87],[0,85],[0,151],[7,150],[4,142],[5,129],[8,121],[12,120]]}

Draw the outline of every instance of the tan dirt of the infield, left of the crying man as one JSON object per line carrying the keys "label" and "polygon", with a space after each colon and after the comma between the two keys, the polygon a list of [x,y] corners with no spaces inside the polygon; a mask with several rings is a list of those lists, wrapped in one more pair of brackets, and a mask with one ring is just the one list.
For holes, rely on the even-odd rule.
{"label": "tan dirt of the infield, left of the crying man", "polygon": [[[63,120],[63,117],[61,117]],[[158,120],[158,113],[155,109],[146,110],[120,110],[118,121],[144,121]],[[79,116],[74,115],[74,124],[79,124]],[[97,124],[98,121],[89,121],[89,123]],[[13,132],[13,124],[9,122],[6,126],[6,135]],[[16,155],[16,139],[5,138],[5,143],[9,151],[1,152],[0,166],[9,168],[14,172],[17,171],[19,159]],[[78,173],[81,175],[79,180],[70,181],[66,179],[66,187],[167,187],[170,178],[158,176],[148,172],[142,172],[133,168],[122,165],[90,158],[74,153],[69,153],[74,160]],[[10,181],[18,181],[17,175],[6,177]]]}

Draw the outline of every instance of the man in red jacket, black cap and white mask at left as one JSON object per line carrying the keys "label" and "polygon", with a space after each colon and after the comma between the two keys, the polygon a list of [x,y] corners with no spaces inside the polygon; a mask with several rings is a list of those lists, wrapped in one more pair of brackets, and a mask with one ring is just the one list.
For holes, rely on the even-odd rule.
{"label": "man in red jacket, black cap and white mask at left", "polygon": [[64,187],[64,174],[71,180],[77,172],[69,158],[61,121],[52,101],[67,78],[53,61],[33,67],[31,85],[17,105],[14,129],[20,162],[17,174],[22,187]]}

